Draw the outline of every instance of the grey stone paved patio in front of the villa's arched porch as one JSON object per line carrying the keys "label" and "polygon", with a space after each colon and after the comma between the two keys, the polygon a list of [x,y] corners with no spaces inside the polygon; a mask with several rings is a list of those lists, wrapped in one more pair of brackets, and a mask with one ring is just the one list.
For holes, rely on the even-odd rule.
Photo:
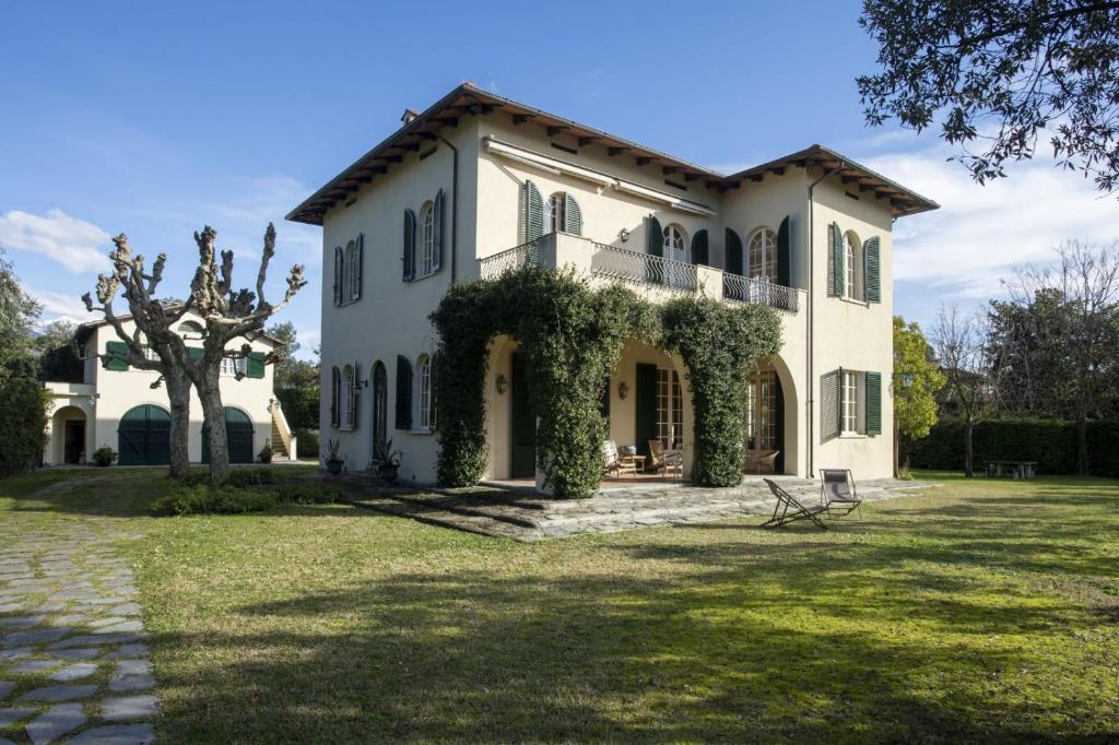
{"label": "grey stone paved patio in front of the villa's arched porch", "polygon": [[[819,482],[778,477],[806,502],[819,499]],[[865,501],[904,496],[927,484],[884,479],[858,484]],[[351,497],[359,507],[486,536],[530,541],[589,532],[617,532],[652,526],[696,525],[747,515],[769,515],[774,500],[761,479],[733,489],[686,484],[608,488],[590,499],[556,500],[493,487],[462,490],[368,493]],[[852,516],[853,519],[855,516]]]}

